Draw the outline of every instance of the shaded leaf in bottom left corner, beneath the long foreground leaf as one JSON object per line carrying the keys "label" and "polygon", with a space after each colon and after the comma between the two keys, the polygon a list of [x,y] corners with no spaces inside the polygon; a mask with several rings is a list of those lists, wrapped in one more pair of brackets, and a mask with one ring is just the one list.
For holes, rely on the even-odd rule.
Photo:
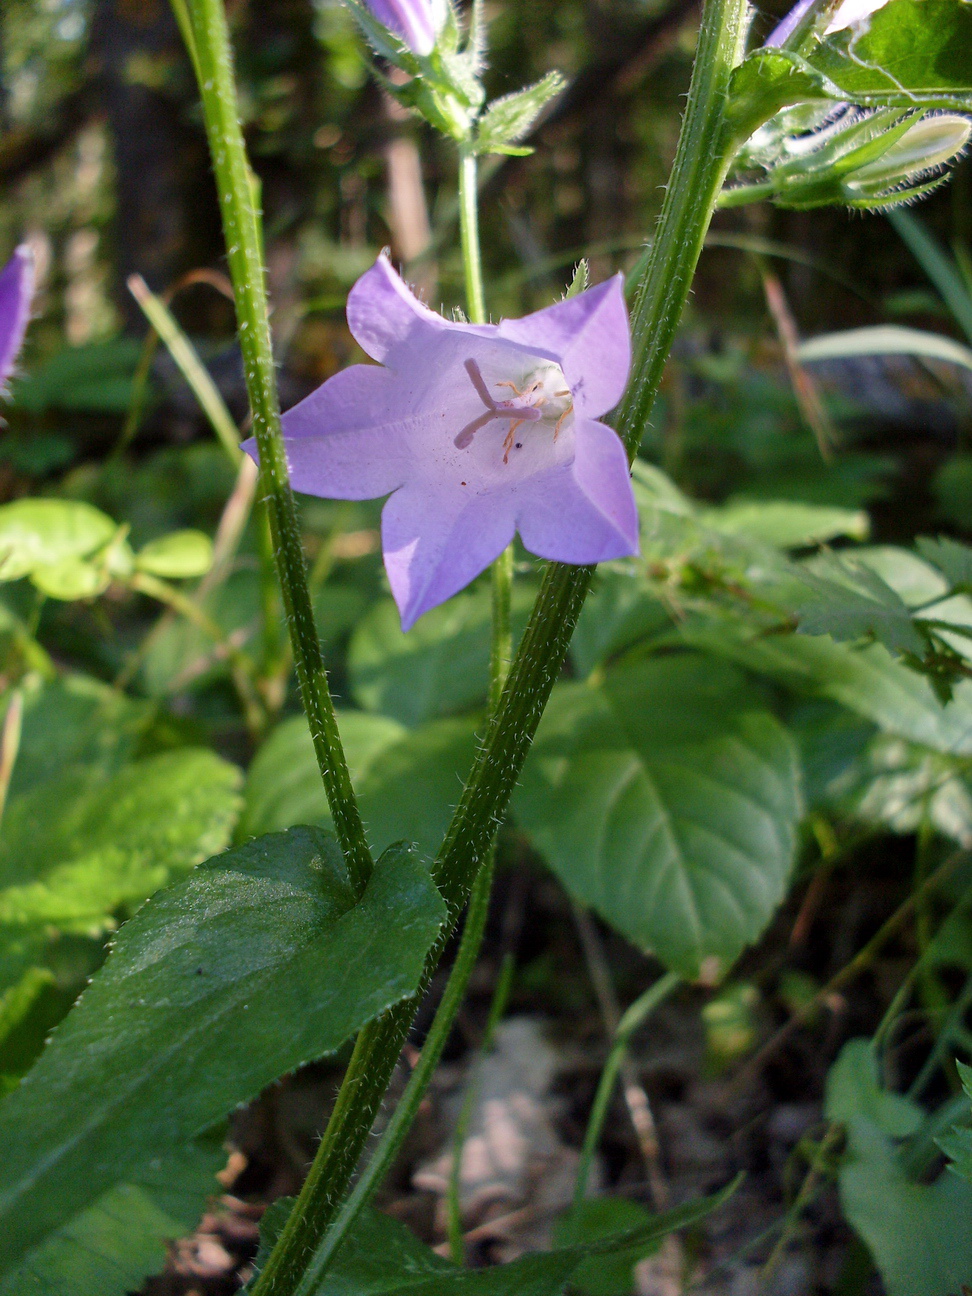
{"label": "shaded leaf in bottom left corner, beneath the long foreground leaf", "polygon": [[209,1139],[156,1157],[128,1182],[35,1247],[8,1277],[0,1296],[126,1296],[162,1269],[166,1244],[194,1227],[226,1153]]}

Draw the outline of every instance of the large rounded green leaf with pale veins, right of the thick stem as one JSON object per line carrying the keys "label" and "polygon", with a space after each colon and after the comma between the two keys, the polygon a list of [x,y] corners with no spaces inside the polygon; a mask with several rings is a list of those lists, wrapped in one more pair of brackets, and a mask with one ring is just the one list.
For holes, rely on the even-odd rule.
{"label": "large rounded green leaf with pale veins, right of the thick stem", "polygon": [[783,898],[794,744],[743,677],[692,654],[561,684],[513,801],[564,884],[669,967],[724,967]]}

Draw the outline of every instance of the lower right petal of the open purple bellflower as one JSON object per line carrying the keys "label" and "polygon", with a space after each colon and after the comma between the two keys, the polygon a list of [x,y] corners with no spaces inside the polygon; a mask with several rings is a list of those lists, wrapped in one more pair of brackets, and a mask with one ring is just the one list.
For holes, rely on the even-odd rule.
{"label": "lower right petal of the open purple bellflower", "polygon": [[531,553],[559,562],[607,562],[638,553],[638,508],[618,434],[575,424],[574,461],[518,492],[517,530]]}

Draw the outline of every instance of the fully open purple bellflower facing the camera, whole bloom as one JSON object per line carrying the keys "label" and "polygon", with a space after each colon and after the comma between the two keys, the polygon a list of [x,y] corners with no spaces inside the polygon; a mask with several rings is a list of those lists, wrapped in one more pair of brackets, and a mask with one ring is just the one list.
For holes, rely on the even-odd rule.
{"label": "fully open purple bellflower facing the camera, whole bloom", "polygon": [[[343,369],[284,415],[290,481],[330,499],[390,494],[381,538],[403,629],[515,531],[561,562],[638,552],[625,447],[597,421],[631,363],[621,275],[524,319],[456,324],[382,255],[351,289],[347,323],[380,363]],[[255,456],[253,441],[244,448]]]}

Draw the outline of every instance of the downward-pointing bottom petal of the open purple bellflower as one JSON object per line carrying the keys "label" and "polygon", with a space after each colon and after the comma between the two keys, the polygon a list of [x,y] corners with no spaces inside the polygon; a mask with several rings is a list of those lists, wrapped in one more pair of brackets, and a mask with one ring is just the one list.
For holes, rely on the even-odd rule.
{"label": "downward-pointing bottom petal of the open purple bellflower", "polygon": [[509,496],[428,482],[395,491],[381,515],[381,547],[402,629],[476,579],[512,539]]}

